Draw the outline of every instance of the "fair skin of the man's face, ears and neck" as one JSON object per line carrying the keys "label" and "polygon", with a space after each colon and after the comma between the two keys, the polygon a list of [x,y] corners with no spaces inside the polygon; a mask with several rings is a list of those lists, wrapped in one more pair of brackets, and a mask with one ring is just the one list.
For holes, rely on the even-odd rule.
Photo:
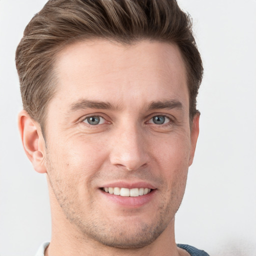
{"label": "fair skin of the man's face, ears and neck", "polygon": [[[24,110],[19,114],[25,152],[48,181],[52,238],[45,254],[188,255],[176,247],[174,216],[199,115],[189,125],[178,47],[82,41],[58,54],[54,70],[58,84],[45,140],[40,125]],[[100,116],[100,123],[89,124],[89,116]],[[164,123],[154,123],[154,116]],[[123,204],[123,197],[100,189],[139,182],[153,188],[144,201],[139,196]]]}

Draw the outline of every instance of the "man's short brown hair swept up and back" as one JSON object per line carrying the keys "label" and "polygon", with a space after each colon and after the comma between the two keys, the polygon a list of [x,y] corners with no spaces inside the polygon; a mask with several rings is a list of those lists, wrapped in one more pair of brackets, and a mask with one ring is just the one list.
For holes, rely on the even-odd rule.
{"label": "man's short brown hair swept up and back", "polygon": [[27,24],[15,57],[23,108],[41,126],[55,91],[56,54],[69,43],[93,38],[178,45],[186,64],[190,120],[198,112],[203,67],[191,19],[176,0],[49,0]]}

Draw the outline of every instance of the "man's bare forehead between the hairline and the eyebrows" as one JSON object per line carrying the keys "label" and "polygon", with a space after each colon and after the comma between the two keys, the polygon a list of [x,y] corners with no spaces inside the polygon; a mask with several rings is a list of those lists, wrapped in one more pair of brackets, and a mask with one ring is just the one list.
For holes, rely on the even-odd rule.
{"label": "man's bare forehead between the hairline and the eyebrows", "polygon": [[164,97],[188,101],[185,64],[174,44],[80,41],[60,51],[54,68],[55,99],[69,105],[79,98],[104,98],[119,105]]}

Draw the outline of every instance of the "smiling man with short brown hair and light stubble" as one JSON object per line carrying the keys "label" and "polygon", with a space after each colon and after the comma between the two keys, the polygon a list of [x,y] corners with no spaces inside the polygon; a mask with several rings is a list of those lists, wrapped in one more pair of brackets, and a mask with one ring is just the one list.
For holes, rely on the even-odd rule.
{"label": "smiling man with short brown hair and light stubble", "polygon": [[175,0],[50,0],[16,66],[23,147],[51,204],[36,255],[208,255],[174,237],[202,77]]}

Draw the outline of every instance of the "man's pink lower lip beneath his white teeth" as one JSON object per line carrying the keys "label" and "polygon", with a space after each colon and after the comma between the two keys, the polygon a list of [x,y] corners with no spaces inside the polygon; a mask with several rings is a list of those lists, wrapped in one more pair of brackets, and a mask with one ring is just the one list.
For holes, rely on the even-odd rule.
{"label": "man's pink lower lip beneath his white teeth", "polygon": [[121,195],[109,194],[101,189],[99,190],[107,200],[110,200],[115,204],[118,204],[123,207],[128,207],[128,208],[136,208],[150,202],[155,194],[156,189],[151,190],[148,194],[139,195],[139,196],[121,196]]}

